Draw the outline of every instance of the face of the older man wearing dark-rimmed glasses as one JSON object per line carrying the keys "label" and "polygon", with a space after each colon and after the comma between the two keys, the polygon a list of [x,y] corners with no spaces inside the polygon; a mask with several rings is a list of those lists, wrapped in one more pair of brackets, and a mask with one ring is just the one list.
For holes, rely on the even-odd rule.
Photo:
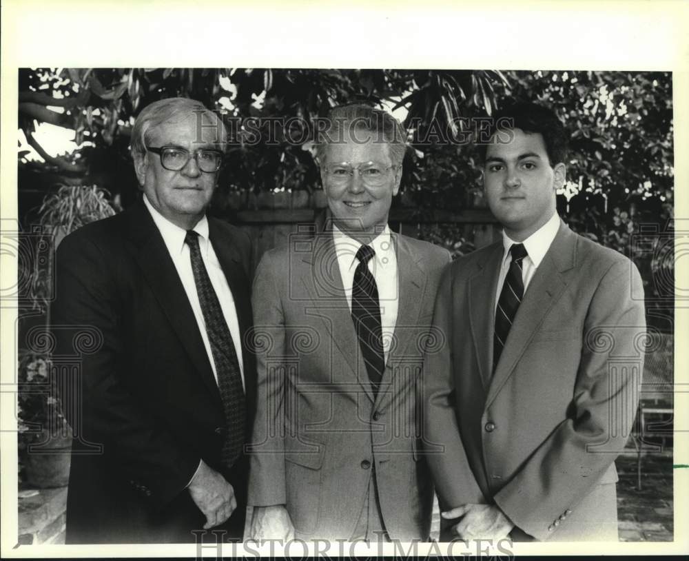
{"label": "face of the older man wearing dark-rimmed glasses", "polygon": [[[218,150],[214,127],[205,126],[198,132],[198,114],[176,116],[150,130],[148,145],[154,148],[176,146],[189,150],[210,148]],[[205,125],[210,123],[204,121]],[[199,137],[200,136],[200,137]],[[158,154],[147,152],[135,163],[136,176],[143,185],[151,205],[170,222],[189,230],[203,217],[211,201],[218,173],[202,172],[194,157],[179,171],[166,170]]]}

